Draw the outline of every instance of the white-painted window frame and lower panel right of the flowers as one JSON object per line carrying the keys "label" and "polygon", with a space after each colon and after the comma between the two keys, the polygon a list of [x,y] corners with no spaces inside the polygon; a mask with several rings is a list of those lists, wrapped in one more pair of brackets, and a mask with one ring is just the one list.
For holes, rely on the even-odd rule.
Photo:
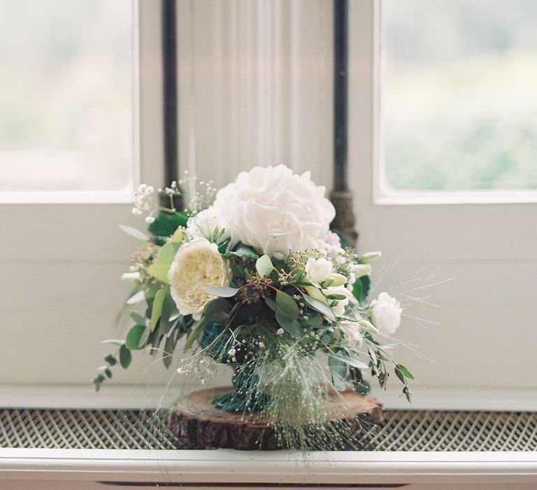
{"label": "white-painted window frame and lower panel right of the flowers", "polygon": [[[378,188],[381,2],[355,0],[349,7],[349,173],[359,249],[381,249],[387,267],[402,254],[395,267],[398,279],[408,279],[422,267],[429,271],[440,267],[439,279],[454,278],[452,284],[457,286],[441,289],[445,295],[430,318],[441,325],[424,334],[414,332],[414,338],[411,328],[401,327],[399,337],[420,344],[420,351],[435,360],[429,364],[408,355],[409,367],[415,367],[422,384],[415,386],[417,406],[537,409],[537,359],[531,351],[537,340],[531,328],[536,313],[532,284],[537,276],[534,198],[530,202],[527,193],[382,196]],[[506,306],[499,288],[492,287],[499,278],[506,278],[502,293],[516,307]],[[377,280],[375,275],[373,281]],[[390,284],[385,281],[382,287]],[[507,327],[520,344],[517,353],[501,349]],[[470,353],[473,342],[480,347]],[[446,363],[441,349],[465,362]],[[492,362],[496,356],[501,363]],[[386,398],[384,393],[375,394]]]}

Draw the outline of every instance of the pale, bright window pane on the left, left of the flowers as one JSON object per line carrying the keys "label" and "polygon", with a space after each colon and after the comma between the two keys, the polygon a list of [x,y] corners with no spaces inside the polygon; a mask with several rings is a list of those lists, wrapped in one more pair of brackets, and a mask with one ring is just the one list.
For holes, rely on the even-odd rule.
{"label": "pale, bright window pane on the left, left of the flowers", "polygon": [[0,191],[133,179],[131,0],[0,0]]}

